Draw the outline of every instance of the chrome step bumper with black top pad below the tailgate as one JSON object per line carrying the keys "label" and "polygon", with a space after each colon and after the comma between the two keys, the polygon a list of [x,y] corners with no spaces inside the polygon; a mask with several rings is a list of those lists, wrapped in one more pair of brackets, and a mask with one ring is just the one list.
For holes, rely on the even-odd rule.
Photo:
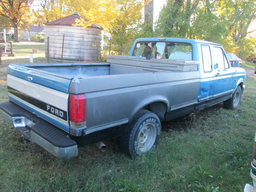
{"label": "chrome step bumper with black top pad below the tailgate", "polygon": [[0,104],[0,115],[31,142],[60,159],[78,155],[78,147],[68,134],[56,126],[34,116],[24,108],[10,102]]}

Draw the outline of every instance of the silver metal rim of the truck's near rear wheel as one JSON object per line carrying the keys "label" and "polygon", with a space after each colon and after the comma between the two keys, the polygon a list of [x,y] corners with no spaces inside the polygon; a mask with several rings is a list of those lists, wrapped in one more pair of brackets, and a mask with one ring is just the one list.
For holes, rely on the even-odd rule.
{"label": "silver metal rim of the truck's near rear wheel", "polygon": [[147,152],[152,148],[156,140],[156,128],[154,124],[146,124],[142,127],[138,135],[138,149]]}

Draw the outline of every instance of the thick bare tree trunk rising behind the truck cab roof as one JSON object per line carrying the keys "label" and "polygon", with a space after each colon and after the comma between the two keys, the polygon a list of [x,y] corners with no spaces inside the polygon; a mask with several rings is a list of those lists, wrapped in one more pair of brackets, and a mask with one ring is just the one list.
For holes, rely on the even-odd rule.
{"label": "thick bare tree trunk rising behind the truck cab roof", "polygon": [[144,8],[144,24],[146,24],[146,31],[152,33],[154,19],[154,0],[144,0],[144,4],[146,4]]}

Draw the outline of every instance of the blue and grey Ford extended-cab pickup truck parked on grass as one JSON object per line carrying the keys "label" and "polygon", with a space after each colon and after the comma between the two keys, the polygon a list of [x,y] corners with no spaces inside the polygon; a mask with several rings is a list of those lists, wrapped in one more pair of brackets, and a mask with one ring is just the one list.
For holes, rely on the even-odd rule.
{"label": "blue and grey Ford extended-cab pickup truck parked on grass", "polygon": [[136,156],[156,147],[161,121],[220,102],[236,108],[245,87],[245,70],[213,42],[140,38],[107,61],[10,64],[0,114],[58,158],[114,137]]}

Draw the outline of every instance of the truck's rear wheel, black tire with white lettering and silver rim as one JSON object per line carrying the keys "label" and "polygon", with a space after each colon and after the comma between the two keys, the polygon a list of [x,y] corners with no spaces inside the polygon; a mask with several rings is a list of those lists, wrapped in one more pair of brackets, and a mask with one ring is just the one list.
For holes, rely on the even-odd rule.
{"label": "truck's rear wheel, black tire with white lettering and silver rim", "polygon": [[120,148],[128,156],[139,156],[156,148],[161,134],[161,123],[156,114],[148,110],[138,112],[120,137]]}

